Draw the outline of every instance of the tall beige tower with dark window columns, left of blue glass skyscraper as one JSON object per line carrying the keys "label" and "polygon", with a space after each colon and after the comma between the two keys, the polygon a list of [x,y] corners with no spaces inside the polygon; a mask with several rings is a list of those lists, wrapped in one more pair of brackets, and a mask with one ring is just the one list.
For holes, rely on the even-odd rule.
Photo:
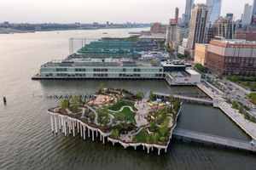
{"label": "tall beige tower with dark window columns, left of blue glass skyscraper", "polygon": [[207,14],[208,10],[205,4],[196,4],[191,11],[188,42],[188,48],[191,52],[195,49],[195,43],[206,42]]}

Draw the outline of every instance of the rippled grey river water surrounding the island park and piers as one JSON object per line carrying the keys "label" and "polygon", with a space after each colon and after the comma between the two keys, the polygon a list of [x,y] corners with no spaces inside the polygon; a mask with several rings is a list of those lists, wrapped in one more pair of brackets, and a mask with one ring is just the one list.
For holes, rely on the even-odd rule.
{"label": "rippled grey river water surrounding the island park and piers", "polygon": [[[108,37],[128,36],[128,31],[108,30]],[[44,80],[32,81],[40,65],[64,59],[68,38],[99,38],[96,31],[49,31],[32,34],[0,35],[0,169],[255,169],[252,153],[222,147],[172,140],[167,153],[150,154],[138,148],[102,144],[99,139],[73,138],[51,133],[49,107],[55,99],[44,94],[94,93],[101,83],[126,88],[134,93],[196,92],[195,87],[169,87],[165,81]],[[3,105],[3,96],[7,105]],[[212,106],[183,104],[177,127],[202,133],[249,141],[234,122]]]}

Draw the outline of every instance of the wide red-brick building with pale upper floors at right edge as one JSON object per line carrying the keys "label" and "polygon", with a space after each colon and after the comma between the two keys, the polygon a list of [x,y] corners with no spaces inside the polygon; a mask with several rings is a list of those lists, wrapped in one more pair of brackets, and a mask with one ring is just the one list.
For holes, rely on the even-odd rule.
{"label": "wide red-brick building with pale upper floors at right edge", "polygon": [[256,76],[256,44],[216,37],[207,48],[207,67],[224,75]]}

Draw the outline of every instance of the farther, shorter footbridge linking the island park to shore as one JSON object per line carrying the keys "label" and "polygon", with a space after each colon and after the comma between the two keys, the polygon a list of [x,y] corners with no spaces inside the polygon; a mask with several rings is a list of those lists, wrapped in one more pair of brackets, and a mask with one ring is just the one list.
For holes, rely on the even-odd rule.
{"label": "farther, shorter footbridge linking the island park to shore", "polygon": [[[163,94],[163,93],[159,93],[159,92],[153,92],[153,93],[156,97],[168,97],[169,98],[169,96],[170,96],[170,94]],[[182,100],[185,100],[185,101],[195,101],[195,102],[198,102],[198,103],[205,103],[205,104],[210,104],[210,105],[213,104],[212,99],[192,98],[192,97],[176,95],[176,94],[174,94],[173,96],[174,96],[174,98],[179,98],[179,99],[182,99]]]}

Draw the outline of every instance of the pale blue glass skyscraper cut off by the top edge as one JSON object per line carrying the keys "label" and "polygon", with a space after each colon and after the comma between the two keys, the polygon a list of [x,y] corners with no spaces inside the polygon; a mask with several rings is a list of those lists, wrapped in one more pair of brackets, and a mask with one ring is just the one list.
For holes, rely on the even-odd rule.
{"label": "pale blue glass skyscraper cut off by the top edge", "polygon": [[222,0],[207,0],[207,23],[214,24],[218,20],[221,11]]}

